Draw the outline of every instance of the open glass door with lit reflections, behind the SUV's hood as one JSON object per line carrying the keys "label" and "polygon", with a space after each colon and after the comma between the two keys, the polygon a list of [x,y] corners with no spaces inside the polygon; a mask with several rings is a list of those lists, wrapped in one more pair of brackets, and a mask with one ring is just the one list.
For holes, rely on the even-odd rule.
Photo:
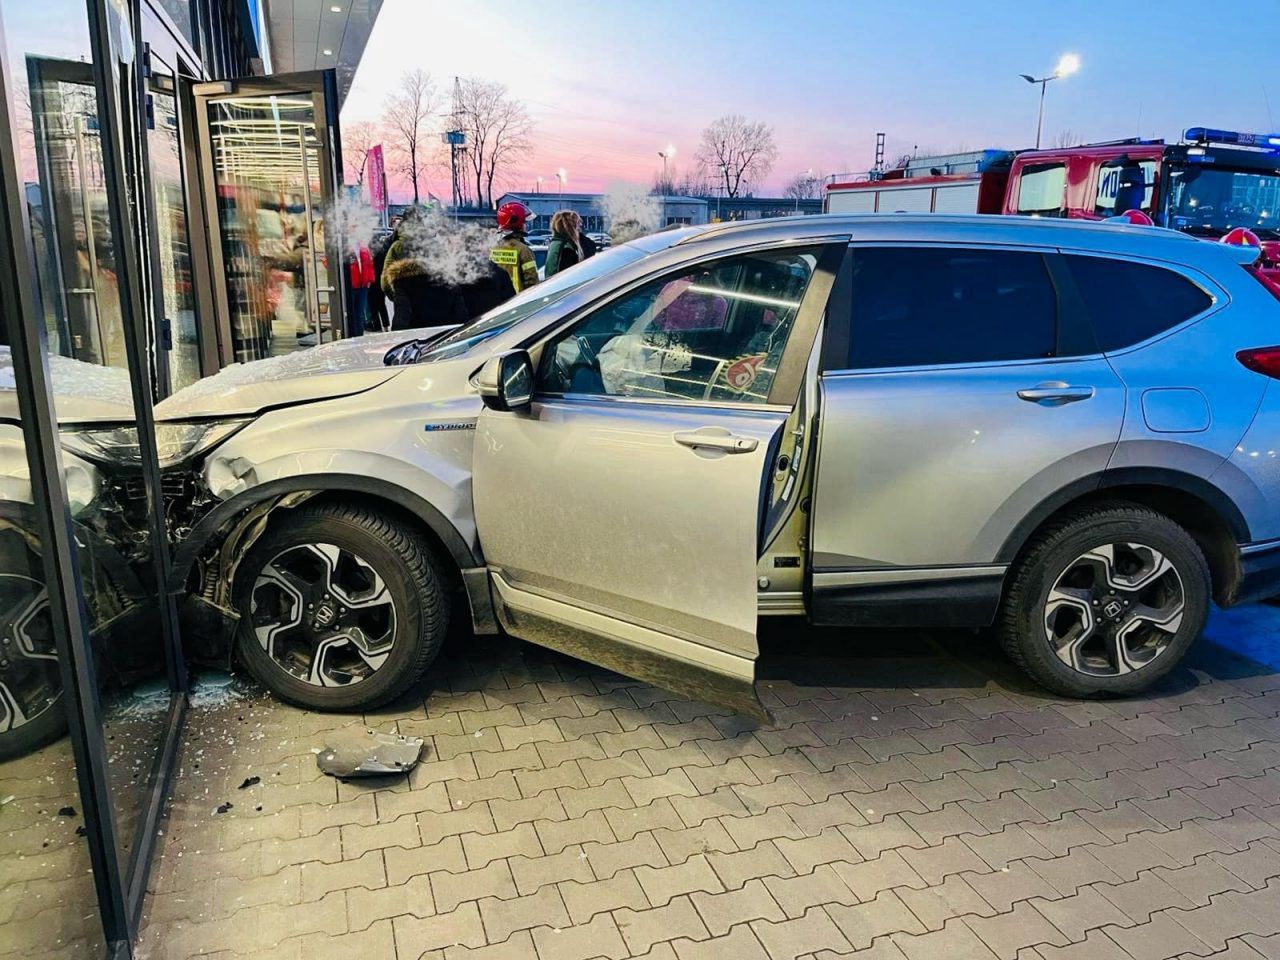
{"label": "open glass door with lit reflections, behind the SUV's hood", "polygon": [[338,192],[333,72],[195,87],[215,297],[236,361],[340,338],[342,260],[325,221]]}

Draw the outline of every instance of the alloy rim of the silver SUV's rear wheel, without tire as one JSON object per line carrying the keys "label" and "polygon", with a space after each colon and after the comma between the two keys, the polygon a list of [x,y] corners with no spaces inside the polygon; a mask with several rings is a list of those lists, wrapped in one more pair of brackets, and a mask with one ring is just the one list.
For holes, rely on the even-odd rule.
{"label": "alloy rim of the silver SUV's rear wheel, without tire", "polygon": [[1044,634],[1062,663],[1121,676],[1160,657],[1183,622],[1181,576],[1140,543],[1094,547],[1059,575],[1044,602]]}

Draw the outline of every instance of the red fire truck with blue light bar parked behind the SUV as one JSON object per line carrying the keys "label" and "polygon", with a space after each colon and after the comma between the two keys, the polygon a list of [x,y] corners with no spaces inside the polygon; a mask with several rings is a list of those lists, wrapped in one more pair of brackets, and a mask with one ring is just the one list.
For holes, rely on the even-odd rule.
{"label": "red fire truck with blue light bar parked behind the SUV", "polygon": [[1280,282],[1280,134],[1193,127],[1181,143],[1126,140],[965,156],[919,157],[881,179],[832,183],[827,210],[963,207],[1085,220],[1140,210],[1158,225],[1206,239],[1252,230],[1261,241],[1260,266]]}

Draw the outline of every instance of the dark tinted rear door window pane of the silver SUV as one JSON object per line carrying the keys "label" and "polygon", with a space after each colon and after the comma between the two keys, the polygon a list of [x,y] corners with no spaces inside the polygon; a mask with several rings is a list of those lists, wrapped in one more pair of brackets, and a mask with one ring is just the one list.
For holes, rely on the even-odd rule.
{"label": "dark tinted rear door window pane of the silver SUV", "polygon": [[854,250],[849,369],[1052,357],[1057,294],[1039,253]]}

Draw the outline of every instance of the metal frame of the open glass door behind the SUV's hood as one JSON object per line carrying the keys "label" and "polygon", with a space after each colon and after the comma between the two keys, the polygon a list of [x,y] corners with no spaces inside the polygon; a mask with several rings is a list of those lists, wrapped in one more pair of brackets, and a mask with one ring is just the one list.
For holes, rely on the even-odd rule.
{"label": "metal frame of the open glass door behind the SUV's hood", "polygon": [[[209,127],[209,101],[229,96],[288,96],[310,95],[316,123],[316,136],[320,141],[320,198],[323,204],[333,204],[340,193],[342,145],[338,137],[338,77],[333,69],[284,73],[270,77],[247,77],[242,79],[212,81],[189,84],[189,93],[196,115],[196,145],[198,155],[198,192],[204,198],[204,215],[209,262],[212,265],[211,280],[214,316],[218,323],[220,355],[224,364],[234,362],[230,297],[227,288],[227,262],[221,244],[221,220],[218,214],[218,189],[215,186],[212,137]],[[303,168],[306,172],[306,168]],[[310,195],[310,189],[307,191]],[[308,198],[307,230],[314,230],[310,216]],[[319,255],[314,243],[308,242],[310,273],[315,274],[315,259]],[[329,317],[334,339],[348,335],[347,332],[347,276],[342,269],[340,251],[334,244],[332,230],[325,230],[325,255],[329,259],[332,292],[329,296]],[[303,261],[306,264],[306,261]],[[312,283],[310,298],[317,300],[320,291]],[[311,317],[319,324],[319,308]],[[316,338],[320,346],[321,338]]]}

